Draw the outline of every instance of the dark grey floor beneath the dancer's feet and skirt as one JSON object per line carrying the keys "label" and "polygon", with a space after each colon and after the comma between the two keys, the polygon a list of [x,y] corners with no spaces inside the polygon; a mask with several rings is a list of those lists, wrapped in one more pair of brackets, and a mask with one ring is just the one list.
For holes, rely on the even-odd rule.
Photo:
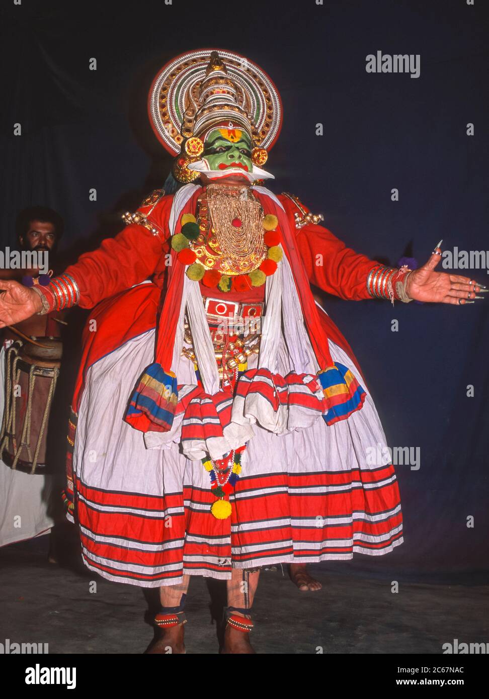
{"label": "dark grey floor beneath the dancer's feet and skirt", "polygon": [[[47,537],[0,549],[0,640],[48,643],[50,653],[141,654],[153,638],[155,591],[115,584],[76,561],[47,562]],[[281,568],[262,572],[253,645],[262,654],[441,654],[488,641],[483,584],[419,584],[313,568],[319,592],[300,593]],[[285,571],[286,572],[286,571]],[[96,591],[93,581],[97,583]],[[187,598],[187,653],[218,653],[224,589],[195,577]]]}

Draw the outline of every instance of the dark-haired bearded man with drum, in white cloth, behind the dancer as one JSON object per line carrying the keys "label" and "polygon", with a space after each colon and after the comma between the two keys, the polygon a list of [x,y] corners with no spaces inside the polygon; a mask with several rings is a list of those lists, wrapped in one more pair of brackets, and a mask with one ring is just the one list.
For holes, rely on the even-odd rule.
{"label": "dark-haired bearded man with drum, in white cloth, behind the dancer", "polygon": [[[47,252],[49,267],[53,269],[63,229],[63,219],[55,210],[45,206],[25,208],[17,216],[17,247],[21,251]],[[44,281],[40,275],[44,271],[38,268],[0,269],[0,278],[17,279],[31,286]],[[22,335],[34,339],[59,338],[63,324],[63,314],[53,312],[45,316],[33,315],[0,331],[0,423],[5,403],[6,347],[18,339],[27,343]],[[50,497],[51,490],[51,475],[30,475],[21,470],[12,470],[0,460],[0,546],[50,531],[54,524],[51,499],[55,499]]]}

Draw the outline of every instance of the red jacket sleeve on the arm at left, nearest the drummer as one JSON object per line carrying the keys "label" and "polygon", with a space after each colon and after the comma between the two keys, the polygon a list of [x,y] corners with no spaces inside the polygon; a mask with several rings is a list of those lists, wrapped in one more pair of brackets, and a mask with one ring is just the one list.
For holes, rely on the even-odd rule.
{"label": "red jacket sleeve on the arm at left, nearest the drummer", "polygon": [[[132,215],[132,220],[136,217],[139,223],[129,223],[115,238],[106,238],[97,250],[85,252],[66,268],[65,273],[78,284],[82,308],[92,308],[153,274],[162,256],[164,240],[169,236],[172,200],[173,196],[162,196],[146,206],[145,200],[136,215]],[[149,224],[151,229],[146,227]]]}

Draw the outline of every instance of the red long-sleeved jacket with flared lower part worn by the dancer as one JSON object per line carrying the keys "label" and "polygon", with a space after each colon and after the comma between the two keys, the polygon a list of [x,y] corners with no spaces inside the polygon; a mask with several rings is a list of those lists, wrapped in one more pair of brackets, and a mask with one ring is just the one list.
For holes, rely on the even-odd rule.
{"label": "red long-sleeved jacket with flared lower part worn by the dancer", "polygon": [[[200,192],[197,189],[193,195],[195,206]],[[323,226],[306,224],[297,229],[295,214],[302,216],[304,210],[309,210],[302,203],[297,206],[283,194],[278,199],[292,230],[297,230],[297,247],[310,282],[328,294],[348,300],[371,298],[367,291],[367,275],[378,262],[346,247]],[[139,208],[138,212],[148,217],[153,231],[142,224],[129,224],[115,238],[104,240],[98,250],[81,255],[76,264],[66,269],[80,288],[79,305],[92,308],[98,304],[90,316],[97,325],[89,322],[84,331],[82,366],[73,399],[75,411],[87,368],[125,341],[155,327],[168,271],[172,201],[173,195],[162,196],[155,205]],[[131,289],[148,278],[152,278],[153,284]],[[263,294],[264,287],[259,288]],[[212,293],[216,297],[225,296],[217,289]],[[243,293],[243,301],[248,301],[246,294]],[[256,296],[253,298],[255,300]],[[321,322],[327,336],[355,360],[345,338],[325,313],[321,313]]]}

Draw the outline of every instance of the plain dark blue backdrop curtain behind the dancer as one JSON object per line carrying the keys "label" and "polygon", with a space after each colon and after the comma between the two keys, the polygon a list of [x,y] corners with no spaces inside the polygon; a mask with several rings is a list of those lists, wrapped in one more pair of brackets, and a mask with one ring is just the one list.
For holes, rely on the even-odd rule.
{"label": "plain dark blue backdrop curtain behind the dancer", "polygon": [[[66,259],[117,232],[120,211],[169,171],[146,116],[155,72],[173,55],[212,46],[250,57],[281,92],[283,131],[267,164],[276,192],[297,194],[336,236],[390,264],[405,252],[425,261],[440,238],[444,247],[486,250],[485,5],[2,0],[1,246],[12,243],[17,210],[31,203],[64,215]],[[367,73],[365,57],[378,50],[420,54],[420,77]],[[22,136],[13,136],[16,122]],[[469,274],[489,280],[485,269]],[[487,572],[489,300],[479,304],[325,299],[362,365],[388,443],[420,447],[421,457],[420,470],[397,468],[404,545],[331,568],[449,572],[454,581],[458,572],[474,580]]]}

